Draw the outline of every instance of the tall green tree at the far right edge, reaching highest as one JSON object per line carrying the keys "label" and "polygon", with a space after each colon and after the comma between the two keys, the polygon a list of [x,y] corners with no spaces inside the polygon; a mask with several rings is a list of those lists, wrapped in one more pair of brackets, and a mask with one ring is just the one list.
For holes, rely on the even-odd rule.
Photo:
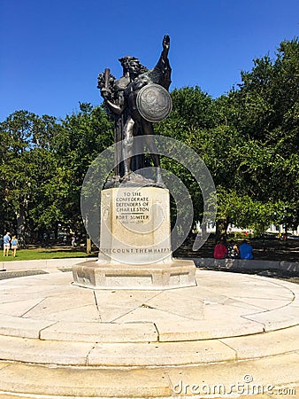
{"label": "tall green tree at the far right edge, reaching highest", "polygon": [[[277,58],[255,59],[231,93],[235,127],[246,138],[238,173],[251,198],[283,201],[289,225],[298,224],[299,43],[280,43]],[[286,220],[287,222],[287,220]]]}

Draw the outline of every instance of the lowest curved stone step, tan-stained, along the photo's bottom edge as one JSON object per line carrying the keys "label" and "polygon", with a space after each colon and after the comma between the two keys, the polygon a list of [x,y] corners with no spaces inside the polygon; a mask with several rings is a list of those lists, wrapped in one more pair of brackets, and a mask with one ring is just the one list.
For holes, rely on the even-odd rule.
{"label": "lowest curved stone step, tan-stained, along the photo's bottom edge", "polygon": [[[298,397],[299,352],[188,367],[95,368],[0,363],[0,398]],[[214,395],[213,395],[214,394]],[[228,395],[231,394],[231,395]],[[2,396],[4,395],[4,396]]]}

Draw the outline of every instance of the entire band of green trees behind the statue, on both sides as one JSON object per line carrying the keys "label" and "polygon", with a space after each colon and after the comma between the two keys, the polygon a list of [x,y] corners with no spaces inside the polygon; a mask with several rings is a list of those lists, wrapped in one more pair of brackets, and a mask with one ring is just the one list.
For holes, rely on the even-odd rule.
{"label": "entire band of green trees behind the statue, on both sides", "polygon": [[[171,92],[173,112],[155,125],[158,135],[188,145],[203,159],[218,193],[218,223],[257,232],[270,223],[299,224],[299,42],[280,43],[275,59],[254,59],[242,82],[213,99],[199,87]],[[0,123],[0,217],[21,241],[84,231],[80,189],[91,162],[113,143],[103,106],[38,116],[20,110]],[[195,221],[203,200],[194,176],[162,160],[188,187]]]}

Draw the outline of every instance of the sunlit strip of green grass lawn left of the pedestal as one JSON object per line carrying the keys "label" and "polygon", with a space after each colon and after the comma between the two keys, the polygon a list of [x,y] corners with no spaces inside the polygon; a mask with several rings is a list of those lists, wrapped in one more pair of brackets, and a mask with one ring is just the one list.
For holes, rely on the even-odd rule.
{"label": "sunlit strip of green grass lawn left of the pedestal", "polygon": [[9,256],[4,257],[3,250],[0,252],[0,262],[7,261],[35,261],[37,259],[62,259],[62,258],[85,258],[96,256],[96,253],[86,254],[78,249],[68,248],[34,248],[34,249],[18,249],[15,258],[12,257],[10,250]]}

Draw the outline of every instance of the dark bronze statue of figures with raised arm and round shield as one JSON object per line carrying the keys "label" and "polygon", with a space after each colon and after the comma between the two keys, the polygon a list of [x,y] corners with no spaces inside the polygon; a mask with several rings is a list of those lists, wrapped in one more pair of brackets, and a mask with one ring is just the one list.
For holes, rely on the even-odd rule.
{"label": "dark bronze statue of figures with raised arm and round shield", "polygon": [[[163,38],[163,51],[157,65],[148,69],[131,56],[119,59],[123,66],[123,76],[115,80],[106,69],[98,76],[98,88],[108,109],[115,120],[115,143],[123,140],[122,157],[118,151],[115,154],[116,164],[114,179],[121,182],[134,182],[141,178],[132,170],[145,167],[143,155],[132,160],[134,136],[142,135],[151,153],[154,166],[157,168],[157,185],[163,184],[160,171],[160,161],[152,135],[152,123],[163,120],[172,109],[172,101],[168,93],[171,83],[171,66],[168,60],[170,38]],[[121,158],[124,162],[120,163]],[[133,166],[134,163],[134,166]]]}

